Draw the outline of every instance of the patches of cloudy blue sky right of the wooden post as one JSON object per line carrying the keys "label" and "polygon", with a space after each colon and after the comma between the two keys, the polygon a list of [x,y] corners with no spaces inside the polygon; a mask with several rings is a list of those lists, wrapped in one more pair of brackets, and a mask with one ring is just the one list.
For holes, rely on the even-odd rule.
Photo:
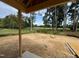
{"label": "patches of cloudy blue sky right of the wooden post", "polygon": [[[34,24],[37,24],[38,26],[39,25],[43,25],[43,16],[45,15],[47,9],[42,9],[42,10],[38,10],[36,11],[36,19],[35,19],[35,23]],[[28,16],[30,17],[30,13],[29,14],[26,14],[26,13],[22,13],[24,16]]]}

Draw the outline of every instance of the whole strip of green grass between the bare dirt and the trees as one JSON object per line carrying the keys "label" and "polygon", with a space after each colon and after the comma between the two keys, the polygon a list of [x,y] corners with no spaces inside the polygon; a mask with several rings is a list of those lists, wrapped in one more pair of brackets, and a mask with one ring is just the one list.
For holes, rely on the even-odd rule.
{"label": "whole strip of green grass between the bare dirt and the trees", "polygon": [[[78,29],[79,30],[79,29]],[[27,33],[45,33],[45,34],[55,34],[55,35],[70,35],[72,32],[67,29],[66,32],[63,32],[62,28],[59,28],[58,31],[52,30],[50,28],[34,28],[33,31],[30,31],[30,28],[25,28],[22,29],[22,34],[27,34]],[[0,37],[2,36],[9,36],[9,35],[18,35],[19,31],[18,29],[1,29],[0,28]],[[79,33],[79,31],[77,32]],[[74,33],[74,35],[78,35]]]}

